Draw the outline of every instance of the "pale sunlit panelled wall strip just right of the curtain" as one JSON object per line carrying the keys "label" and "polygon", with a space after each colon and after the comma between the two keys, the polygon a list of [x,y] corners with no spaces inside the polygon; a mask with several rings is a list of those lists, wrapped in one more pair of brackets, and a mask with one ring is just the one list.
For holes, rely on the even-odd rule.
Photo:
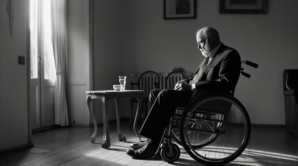
{"label": "pale sunlit panelled wall strip just right of the curtain", "polygon": [[[89,124],[85,91],[90,91],[89,1],[68,1],[68,110],[69,123]],[[78,67],[79,66],[79,67]]]}

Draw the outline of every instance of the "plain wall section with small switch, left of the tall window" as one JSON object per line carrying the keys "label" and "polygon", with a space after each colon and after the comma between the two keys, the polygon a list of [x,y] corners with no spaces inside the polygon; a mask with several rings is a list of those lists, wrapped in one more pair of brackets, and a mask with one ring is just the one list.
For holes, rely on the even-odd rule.
{"label": "plain wall section with small switch, left of the tall window", "polygon": [[[0,151],[31,142],[27,108],[28,2],[13,2],[13,37],[10,37],[8,1],[0,1]],[[25,65],[17,64],[18,56],[26,57]]]}

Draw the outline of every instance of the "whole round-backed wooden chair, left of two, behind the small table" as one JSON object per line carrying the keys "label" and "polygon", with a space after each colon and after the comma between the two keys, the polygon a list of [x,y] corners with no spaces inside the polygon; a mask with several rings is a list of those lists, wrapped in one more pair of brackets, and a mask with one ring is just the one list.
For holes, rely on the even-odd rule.
{"label": "whole round-backed wooden chair, left of two, behind the small table", "polygon": [[[140,111],[140,118],[147,116],[149,93],[152,89],[160,88],[160,76],[155,71],[145,71],[138,77],[137,82],[131,82],[131,89],[144,90],[142,95],[142,110]],[[137,103],[136,99],[131,98],[131,117],[129,123],[133,122],[133,103]]]}

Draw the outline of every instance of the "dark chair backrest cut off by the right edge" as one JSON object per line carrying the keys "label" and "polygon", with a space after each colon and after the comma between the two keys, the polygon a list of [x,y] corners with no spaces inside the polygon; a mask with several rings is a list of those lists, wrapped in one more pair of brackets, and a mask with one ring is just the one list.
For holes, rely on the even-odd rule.
{"label": "dark chair backrest cut off by the right edge", "polygon": [[283,71],[283,91],[298,89],[298,69]]}

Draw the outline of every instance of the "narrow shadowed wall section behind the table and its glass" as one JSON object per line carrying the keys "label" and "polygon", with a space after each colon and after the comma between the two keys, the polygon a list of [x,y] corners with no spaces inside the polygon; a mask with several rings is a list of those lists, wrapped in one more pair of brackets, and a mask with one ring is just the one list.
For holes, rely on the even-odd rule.
{"label": "narrow shadowed wall section behind the table and its glass", "polygon": [[[113,89],[119,84],[118,75],[122,70],[122,10],[123,1],[94,0],[94,46],[93,46],[93,89]],[[131,65],[131,64],[129,64]],[[97,122],[102,122],[101,102],[94,100]],[[109,102],[109,119],[115,120],[115,102]],[[121,111],[123,113],[123,111]]]}

